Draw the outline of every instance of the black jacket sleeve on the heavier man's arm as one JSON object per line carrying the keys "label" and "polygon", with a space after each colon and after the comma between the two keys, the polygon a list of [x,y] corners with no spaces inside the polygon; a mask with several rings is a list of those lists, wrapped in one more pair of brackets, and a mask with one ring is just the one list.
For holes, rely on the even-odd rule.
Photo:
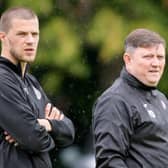
{"label": "black jacket sleeve on the heavier man's arm", "polygon": [[131,125],[127,105],[117,95],[105,95],[93,107],[97,168],[127,168]]}

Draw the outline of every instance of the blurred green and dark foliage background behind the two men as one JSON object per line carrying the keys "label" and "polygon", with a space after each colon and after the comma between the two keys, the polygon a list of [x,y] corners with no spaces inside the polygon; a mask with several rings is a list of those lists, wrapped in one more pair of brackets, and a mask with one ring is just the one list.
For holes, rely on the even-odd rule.
{"label": "blurred green and dark foliage background behind the two men", "polygon": [[[168,41],[168,0],[0,0],[0,13],[11,6],[30,7],[39,16],[31,73],[75,125],[74,144],[51,152],[54,168],[94,168],[94,101],[119,75],[130,31],[149,28]],[[167,71],[159,89],[168,96]]]}

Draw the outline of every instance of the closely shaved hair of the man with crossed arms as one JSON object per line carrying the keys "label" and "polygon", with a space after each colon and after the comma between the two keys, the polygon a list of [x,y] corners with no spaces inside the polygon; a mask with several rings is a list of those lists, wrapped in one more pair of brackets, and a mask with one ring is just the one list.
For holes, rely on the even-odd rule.
{"label": "closely shaved hair of the man with crossed arms", "polygon": [[26,7],[12,7],[2,13],[0,18],[0,31],[8,32],[13,19],[33,19],[38,18],[37,15]]}

